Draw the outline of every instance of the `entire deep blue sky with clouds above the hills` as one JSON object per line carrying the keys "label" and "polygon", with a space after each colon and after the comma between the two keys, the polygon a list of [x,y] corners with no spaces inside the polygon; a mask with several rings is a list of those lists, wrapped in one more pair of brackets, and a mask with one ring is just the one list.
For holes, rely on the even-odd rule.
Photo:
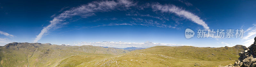
{"label": "entire deep blue sky with clouds above the hills", "polygon": [[[256,1],[1,1],[0,46],[12,42],[152,47],[250,46]],[[185,38],[185,30],[243,29],[243,38]],[[216,34],[216,33],[215,33]],[[235,34],[234,34],[235,35]]]}

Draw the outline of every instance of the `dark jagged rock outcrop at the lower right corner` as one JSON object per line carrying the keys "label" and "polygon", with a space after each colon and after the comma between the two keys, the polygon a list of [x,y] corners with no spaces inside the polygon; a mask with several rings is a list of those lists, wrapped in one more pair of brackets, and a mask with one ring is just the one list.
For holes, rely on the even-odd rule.
{"label": "dark jagged rock outcrop at the lower right corner", "polygon": [[239,53],[239,58],[235,62],[236,67],[256,67],[256,37],[254,38],[254,43],[244,50],[244,52]]}

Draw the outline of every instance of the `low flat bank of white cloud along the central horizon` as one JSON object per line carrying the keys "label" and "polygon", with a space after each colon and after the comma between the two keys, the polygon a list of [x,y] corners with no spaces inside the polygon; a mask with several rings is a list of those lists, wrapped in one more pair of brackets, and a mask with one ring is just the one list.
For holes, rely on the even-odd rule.
{"label": "low flat bank of white cloud along the central horizon", "polygon": [[104,46],[104,47],[116,47],[116,48],[126,48],[126,47],[153,47],[153,46],[191,46],[191,45],[183,45],[183,44],[163,44],[163,43],[153,43],[153,42],[144,42],[144,43],[130,43],[130,42],[81,42],[81,43],[73,43],[74,46],[82,46],[82,45],[93,45],[93,46]]}

